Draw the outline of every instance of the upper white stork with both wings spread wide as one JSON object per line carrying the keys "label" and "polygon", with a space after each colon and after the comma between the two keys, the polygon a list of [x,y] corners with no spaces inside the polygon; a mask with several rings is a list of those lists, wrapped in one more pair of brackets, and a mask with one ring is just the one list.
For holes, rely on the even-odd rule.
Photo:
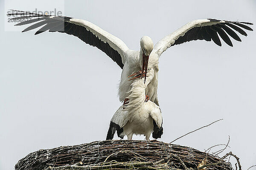
{"label": "upper white stork with both wings spread wide", "polygon": [[[215,19],[194,20],[177,29],[172,34],[167,35],[157,42],[156,45],[153,45],[150,37],[143,36],[140,40],[140,51],[134,51],[130,50],[119,38],[86,20],[64,16],[35,14],[26,11],[12,11],[13,13],[7,15],[18,16],[12,18],[12,20],[23,20],[23,22],[15,26],[33,23],[33,25],[27,27],[22,32],[42,26],[35,34],[40,34],[44,31],[72,34],[79,37],[79,39],[87,44],[96,46],[111,57],[111,59],[122,68],[118,94],[119,100],[121,102],[124,101],[124,105],[128,103],[128,91],[131,90],[132,81],[129,81],[129,79],[146,77],[146,71],[149,68],[154,69],[154,78],[148,83],[146,98],[159,105],[157,99],[158,60],[160,55],[166,51],[167,48],[192,40],[213,40],[215,44],[221,46],[219,36],[227,45],[233,46],[229,36],[237,41],[241,41],[235,31],[244,36],[247,36],[247,34],[241,28],[253,31],[252,28],[247,26],[252,25],[252,23]],[[141,74],[142,72],[143,74]]]}

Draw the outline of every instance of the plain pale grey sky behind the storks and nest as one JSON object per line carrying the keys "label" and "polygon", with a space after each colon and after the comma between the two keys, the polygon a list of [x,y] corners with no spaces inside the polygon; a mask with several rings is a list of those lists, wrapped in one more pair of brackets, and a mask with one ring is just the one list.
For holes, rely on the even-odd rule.
{"label": "plain pale grey sky behind the storks and nest", "polygon": [[[7,1],[7,0],[6,0]],[[77,37],[25,27],[8,31],[8,8],[41,11],[61,8],[64,15],[88,20],[138,50],[143,35],[156,43],[195,19],[256,23],[254,0],[0,2],[0,170],[14,169],[30,152],[105,140],[113,113],[121,105],[121,69],[97,48]],[[14,25],[13,23],[12,25]],[[256,30],[255,25],[252,26]],[[7,29],[7,30],[6,30]],[[247,31],[234,47],[222,41],[175,45],[160,58],[158,98],[163,136],[204,151],[225,144],[240,157],[243,170],[256,164],[256,34]],[[118,139],[115,136],[114,139]],[[144,139],[143,136],[134,139]],[[152,139],[152,138],[151,138]],[[217,148],[216,148],[217,149]],[[228,151],[228,150],[227,150]],[[255,169],[255,168],[254,168]]]}

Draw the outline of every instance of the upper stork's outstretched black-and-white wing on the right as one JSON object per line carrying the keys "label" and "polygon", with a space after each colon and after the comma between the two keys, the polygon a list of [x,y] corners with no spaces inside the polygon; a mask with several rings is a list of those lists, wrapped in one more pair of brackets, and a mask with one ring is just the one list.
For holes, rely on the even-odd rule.
{"label": "upper stork's outstretched black-and-white wing on the right", "polygon": [[247,34],[241,28],[253,31],[253,29],[247,25],[252,25],[252,23],[215,19],[194,20],[157,42],[153,51],[160,56],[167,48],[192,40],[213,40],[215,44],[221,46],[221,41],[218,35],[227,43],[227,45],[233,46],[230,37],[237,41],[241,41],[235,31],[244,36],[247,36]]}

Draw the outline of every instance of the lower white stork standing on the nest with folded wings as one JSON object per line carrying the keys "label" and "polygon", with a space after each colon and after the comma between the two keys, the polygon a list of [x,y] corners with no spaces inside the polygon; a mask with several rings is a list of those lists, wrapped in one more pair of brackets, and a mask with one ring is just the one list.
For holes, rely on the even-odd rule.
{"label": "lower white stork standing on the nest with folded wings", "polygon": [[123,139],[127,136],[132,139],[133,134],[143,134],[146,140],[152,132],[153,138],[161,138],[163,134],[163,118],[159,106],[148,100],[145,102],[145,89],[154,78],[154,69],[148,69],[148,77],[144,83],[143,79],[137,79],[131,83],[131,91],[128,96],[129,103],[125,108],[121,105],[113,115],[107,134],[107,140],[113,139],[115,132]]}

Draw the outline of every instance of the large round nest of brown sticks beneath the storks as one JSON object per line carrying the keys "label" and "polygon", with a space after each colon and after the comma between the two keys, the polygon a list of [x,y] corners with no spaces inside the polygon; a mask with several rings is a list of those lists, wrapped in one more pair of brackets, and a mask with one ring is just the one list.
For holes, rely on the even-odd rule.
{"label": "large round nest of brown sticks beneath the storks", "polygon": [[220,158],[156,140],[109,140],[38,150],[20,159],[15,170],[232,170],[228,156],[241,170],[231,152]]}

